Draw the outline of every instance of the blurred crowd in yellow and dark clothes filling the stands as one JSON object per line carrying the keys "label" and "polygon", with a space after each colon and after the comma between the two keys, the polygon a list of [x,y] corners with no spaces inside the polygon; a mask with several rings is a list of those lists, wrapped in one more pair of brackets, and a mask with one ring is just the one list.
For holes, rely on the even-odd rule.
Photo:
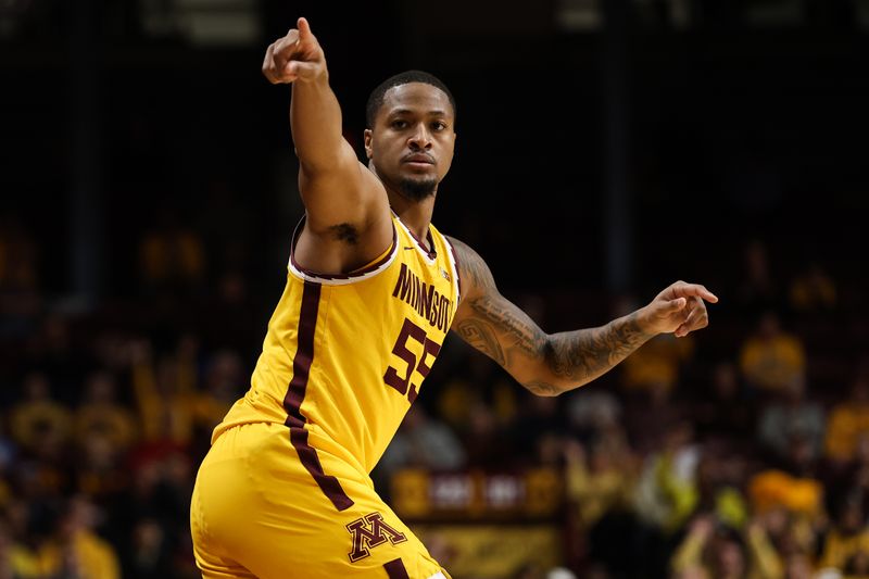
{"label": "blurred crowd in yellow and dark clothes filling the stands", "polygon": [[[166,218],[137,247],[140,294],[65,311],[41,289],[38,240],[0,219],[0,579],[198,576],[196,469],[265,331],[239,269],[209,270],[213,247]],[[861,289],[821,260],[773,276],[761,239],[743,252],[708,329],[659,336],[559,398],[451,338],[378,489],[408,467],[551,467],[564,577],[869,577]],[[552,322],[552,302],[515,299]]]}

